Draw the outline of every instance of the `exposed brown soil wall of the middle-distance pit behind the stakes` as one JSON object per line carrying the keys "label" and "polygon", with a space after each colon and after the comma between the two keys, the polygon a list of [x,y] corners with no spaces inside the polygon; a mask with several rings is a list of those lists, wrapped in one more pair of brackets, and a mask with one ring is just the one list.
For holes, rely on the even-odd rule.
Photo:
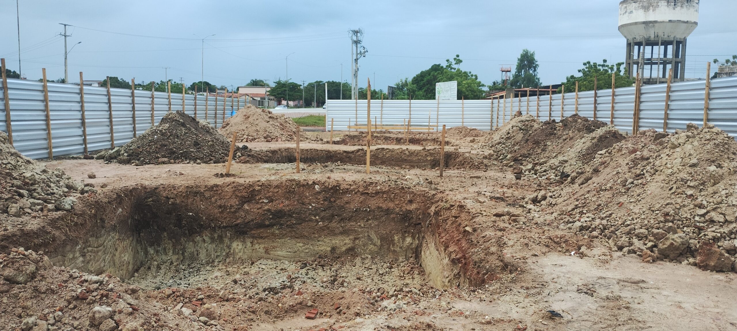
{"label": "exposed brown soil wall of the middle-distance pit behind the stakes", "polygon": [[[294,163],[296,162],[295,149],[249,149],[242,151],[239,163]],[[353,149],[350,151],[336,151],[325,149],[300,149],[300,162],[302,163],[348,163],[354,165],[366,165],[366,150]],[[461,152],[445,152],[445,164],[447,168],[468,168],[485,170],[488,168],[489,160],[483,155],[468,154]],[[434,169],[440,166],[439,149],[371,149],[371,165],[384,165],[399,168],[428,168]]]}

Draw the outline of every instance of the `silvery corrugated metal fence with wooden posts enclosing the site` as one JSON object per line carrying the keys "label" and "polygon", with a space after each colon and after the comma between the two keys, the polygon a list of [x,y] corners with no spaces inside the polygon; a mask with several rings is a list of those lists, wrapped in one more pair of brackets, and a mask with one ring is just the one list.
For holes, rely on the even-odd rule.
{"label": "silvery corrugated metal fence with wooden posts enclosing the site", "polygon": [[[8,79],[10,115],[13,124],[15,148],[32,158],[48,157],[46,141],[46,110],[43,101],[43,83],[24,79]],[[52,146],[55,155],[83,152],[82,113],[79,85],[49,82],[49,112],[51,115]],[[85,86],[85,120],[88,150],[107,149],[111,146],[110,111],[107,88]],[[136,90],[136,135],[150,128],[153,104],[154,123],[170,110],[169,94],[150,90]],[[599,90],[596,100],[596,118],[609,123],[612,101],[611,90]],[[639,129],[663,129],[666,85],[645,85],[640,90]],[[704,114],[705,81],[677,82],[672,85],[668,107],[668,132],[685,129],[686,124],[702,124]],[[4,102],[0,93],[0,104]],[[181,94],[172,94],[171,110],[182,109]],[[214,127],[221,127],[223,119],[231,115],[237,102],[222,96],[198,96],[198,118]],[[561,99],[563,116],[576,113],[576,93],[552,96],[526,96],[501,100],[371,100],[371,120],[378,124],[395,126],[411,122],[412,127],[436,130],[447,127],[475,127],[490,129],[510,120],[518,110],[523,114],[538,115],[541,121],[548,118],[559,121]],[[539,100],[539,101],[538,101]],[[113,134],[115,145],[121,146],[133,138],[133,101],[131,91],[111,89],[113,110]],[[578,113],[593,118],[593,91],[580,92]],[[195,96],[185,96],[185,112],[195,113]],[[632,132],[635,112],[635,88],[615,90],[614,125],[623,132]],[[328,100],[327,120],[335,121],[336,130],[346,130],[349,125],[366,125],[366,100]],[[708,119],[710,124],[737,136],[737,77],[713,79],[710,88]],[[5,110],[0,112],[0,129],[7,132]],[[377,124],[374,123],[374,124]]]}

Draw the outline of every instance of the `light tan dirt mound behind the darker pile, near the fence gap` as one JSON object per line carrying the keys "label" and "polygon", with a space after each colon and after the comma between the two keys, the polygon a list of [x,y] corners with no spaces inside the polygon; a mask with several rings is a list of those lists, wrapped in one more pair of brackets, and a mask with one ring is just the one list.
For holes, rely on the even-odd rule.
{"label": "light tan dirt mound behind the darker pile, near the fence gap", "polygon": [[[297,124],[284,115],[271,113],[252,105],[241,108],[231,118],[223,122],[218,129],[226,137],[238,132],[239,142],[271,142],[294,141],[297,135]],[[300,132],[301,140],[306,140]]]}

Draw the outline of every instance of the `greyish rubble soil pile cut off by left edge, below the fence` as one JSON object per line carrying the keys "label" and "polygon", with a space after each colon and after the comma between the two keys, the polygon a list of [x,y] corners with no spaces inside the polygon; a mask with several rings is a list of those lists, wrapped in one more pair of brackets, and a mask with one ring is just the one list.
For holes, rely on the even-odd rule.
{"label": "greyish rubble soil pile cut off by left edge, below the fence", "polygon": [[0,215],[46,215],[71,210],[79,193],[97,192],[64,174],[24,157],[0,132]]}

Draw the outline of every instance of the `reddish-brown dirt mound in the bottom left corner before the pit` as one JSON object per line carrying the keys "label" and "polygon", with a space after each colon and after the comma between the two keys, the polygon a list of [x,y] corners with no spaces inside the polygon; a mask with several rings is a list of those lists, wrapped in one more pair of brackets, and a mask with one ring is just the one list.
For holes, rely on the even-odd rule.
{"label": "reddish-brown dirt mound in the bottom left corner before the pit", "polygon": [[0,265],[3,330],[160,330],[170,325],[203,329],[203,324],[142,296],[138,286],[110,274],[52,266],[41,252],[12,249],[10,255],[0,255]]}

